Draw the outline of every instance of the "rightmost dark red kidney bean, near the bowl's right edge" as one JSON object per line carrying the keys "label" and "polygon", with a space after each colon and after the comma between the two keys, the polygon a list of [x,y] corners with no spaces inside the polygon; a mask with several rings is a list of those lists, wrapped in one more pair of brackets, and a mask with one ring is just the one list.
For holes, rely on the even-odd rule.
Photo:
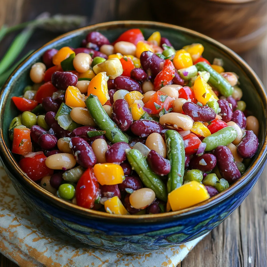
{"label": "rightmost dark red kidney bean, near the bowl's right edge", "polygon": [[259,141],[255,133],[245,131],[244,137],[237,146],[237,154],[243,159],[252,158],[258,149],[258,145]]}

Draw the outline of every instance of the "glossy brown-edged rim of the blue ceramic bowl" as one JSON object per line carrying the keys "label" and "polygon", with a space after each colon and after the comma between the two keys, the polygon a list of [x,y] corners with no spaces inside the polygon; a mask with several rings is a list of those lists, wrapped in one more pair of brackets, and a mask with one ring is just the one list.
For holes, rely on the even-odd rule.
{"label": "glossy brown-edged rim of the blue ceramic bowl", "polygon": [[[241,69],[246,73],[246,75],[249,77],[251,82],[253,83],[254,87],[258,87],[259,93],[261,91],[261,95],[263,96],[262,102],[264,108],[267,107],[267,95],[264,89],[264,85],[262,84],[261,80],[258,78],[256,73],[252,70],[252,68],[235,52],[233,52],[230,48],[227,48],[225,45],[219,43],[218,41],[204,35],[201,33],[198,33],[196,31],[175,26],[168,23],[161,23],[161,22],[152,22],[152,21],[111,21],[111,22],[104,22],[104,23],[98,23],[90,26],[86,26],[77,30],[73,30],[71,32],[62,34],[61,36],[58,36],[57,38],[54,38],[50,42],[43,45],[41,48],[33,52],[28,58],[26,58],[10,75],[9,79],[6,81],[5,85],[3,86],[1,95],[0,95],[0,148],[1,148],[1,155],[2,160],[5,161],[9,167],[6,166],[6,168],[11,172],[11,174],[14,175],[14,177],[19,176],[24,180],[26,185],[28,185],[31,189],[37,193],[38,197],[46,198],[50,203],[52,203],[55,206],[60,206],[64,210],[72,211],[73,213],[77,215],[83,215],[88,218],[96,218],[96,219],[109,219],[112,221],[120,221],[120,222],[128,222],[128,223],[147,223],[147,222],[159,222],[163,220],[172,220],[176,218],[181,218],[184,216],[188,216],[192,213],[198,213],[202,210],[206,210],[208,208],[211,208],[214,205],[217,205],[219,202],[223,201],[224,199],[230,197],[232,194],[237,192],[239,189],[241,189],[242,186],[244,186],[246,183],[252,179],[253,174],[260,169],[260,167],[265,163],[266,153],[267,153],[267,136],[266,136],[266,129],[265,129],[265,136],[264,136],[264,142],[262,144],[261,151],[257,158],[254,160],[252,166],[246,171],[244,175],[241,176],[234,184],[233,186],[230,186],[227,190],[219,193],[218,195],[207,199],[206,201],[203,201],[197,205],[194,205],[192,207],[189,207],[187,209],[179,210],[179,211],[170,211],[166,213],[159,213],[159,214],[144,214],[144,215],[117,215],[117,214],[109,214],[105,213],[103,211],[98,210],[92,210],[83,208],[77,205],[74,205],[72,203],[66,202],[60,198],[57,198],[56,196],[50,194],[48,191],[43,189],[41,186],[39,186],[37,183],[33,182],[19,167],[18,163],[15,161],[13,155],[11,154],[11,151],[9,150],[9,147],[7,146],[5,140],[4,140],[4,133],[3,133],[3,112],[2,110],[5,108],[6,102],[7,102],[7,96],[9,94],[9,87],[11,85],[11,81],[16,79],[16,75],[23,71],[23,66],[30,60],[30,58],[35,58],[35,56],[40,56],[40,51],[43,50],[46,46],[56,44],[57,42],[60,42],[65,37],[70,36],[77,36],[80,33],[83,33],[85,31],[90,30],[103,30],[103,29],[113,29],[113,28],[164,28],[164,29],[172,29],[175,31],[179,31],[181,33],[190,34],[191,36],[199,37],[201,39],[204,39],[206,42],[209,42],[210,44],[216,46],[219,48],[221,52],[224,52],[231,58],[231,60],[235,61]],[[19,72],[18,72],[19,70]],[[18,73],[17,73],[18,72]],[[14,77],[13,77],[14,76]],[[267,125],[267,119],[265,116],[265,123]],[[16,178],[18,179],[18,178]],[[134,219],[134,221],[132,221]]]}

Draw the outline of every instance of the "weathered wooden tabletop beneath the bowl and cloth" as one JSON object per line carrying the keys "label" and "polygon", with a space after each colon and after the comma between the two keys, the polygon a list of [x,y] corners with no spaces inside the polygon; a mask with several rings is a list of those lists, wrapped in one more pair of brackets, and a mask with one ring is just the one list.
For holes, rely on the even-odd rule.
{"label": "weathered wooden tabletop beneath the bowl and cloth", "polygon": [[[74,4],[75,3],[75,4]],[[139,0],[0,0],[0,26],[34,19],[43,11],[52,14],[77,13],[88,16],[88,24],[137,19],[154,20],[150,5]],[[75,7],[73,9],[73,6]],[[37,49],[58,33],[38,30],[22,54]],[[14,36],[0,44],[0,58]],[[267,38],[257,48],[241,54],[267,87]],[[245,85],[243,85],[245,86]],[[178,266],[264,267],[267,266],[267,169],[241,206],[214,229]],[[17,266],[0,254],[0,267]],[[23,266],[24,267],[24,266]],[[81,266],[82,267],[82,266]]]}

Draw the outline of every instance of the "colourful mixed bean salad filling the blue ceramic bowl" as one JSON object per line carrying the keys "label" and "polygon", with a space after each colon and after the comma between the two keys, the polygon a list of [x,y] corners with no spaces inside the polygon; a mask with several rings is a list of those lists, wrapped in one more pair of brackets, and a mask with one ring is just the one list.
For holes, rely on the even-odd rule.
{"label": "colourful mixed bean salad filling the blue ceramic bowl", "polygon": [[258,149],[237,74],[154,32],[48,49],[12,97],[12,152],[58,198],[112,214],[182,210],[226,190]]}

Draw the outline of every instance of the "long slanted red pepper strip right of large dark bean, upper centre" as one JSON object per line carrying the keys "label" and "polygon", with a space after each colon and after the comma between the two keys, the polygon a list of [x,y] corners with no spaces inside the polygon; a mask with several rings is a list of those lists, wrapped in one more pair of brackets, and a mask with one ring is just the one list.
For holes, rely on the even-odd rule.
{"label": "long slanted red pepper strip right of large dark bean, upper centre", "polygon": [[175,68],[173,63],[166,59],[163,69],[159,72],[154,80],[155,91],[167,85],[174,78]]}

